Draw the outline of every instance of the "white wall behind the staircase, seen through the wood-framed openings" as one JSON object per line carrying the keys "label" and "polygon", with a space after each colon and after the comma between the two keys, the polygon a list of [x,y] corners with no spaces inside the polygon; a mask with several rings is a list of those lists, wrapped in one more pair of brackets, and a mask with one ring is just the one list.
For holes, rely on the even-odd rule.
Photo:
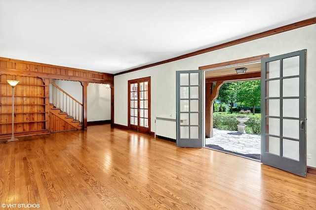
{"label": "white wall behind the staircase, seen through the wood-framed openings", "polygon": [[[58,87],[82,103],[80,82],[54,80]],[[111,120],[111,89],[105,84],[89,83],[87,87],[87,121]]]}

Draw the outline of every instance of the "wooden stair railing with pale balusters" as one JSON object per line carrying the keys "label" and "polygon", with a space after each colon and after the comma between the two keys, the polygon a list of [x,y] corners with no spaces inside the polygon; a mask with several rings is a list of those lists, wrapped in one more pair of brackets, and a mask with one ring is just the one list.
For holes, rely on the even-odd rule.
{"label": "wooden stair railing with pale balusters", "polygon": [[82,104],[56,84],[50,84],[52,85],[50,103],[54,104],[55,108],[60,109],[61,113],[67,113],[67,117],[74,118],[74,121],[79,121],[79,124],[82,124]]}

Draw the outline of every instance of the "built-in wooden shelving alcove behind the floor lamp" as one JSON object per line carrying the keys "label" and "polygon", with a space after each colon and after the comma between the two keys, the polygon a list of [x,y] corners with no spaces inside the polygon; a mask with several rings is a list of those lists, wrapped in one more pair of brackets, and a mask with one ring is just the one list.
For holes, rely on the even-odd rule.
{"label": "built-in wooden shelving alcove behind the floor lamp", "polygon": [[0,136],[12,133],[12,87],[6,80],[18,80],[14,90],[14,132],[45,131],[45,85],[41,78],[0,75]]}

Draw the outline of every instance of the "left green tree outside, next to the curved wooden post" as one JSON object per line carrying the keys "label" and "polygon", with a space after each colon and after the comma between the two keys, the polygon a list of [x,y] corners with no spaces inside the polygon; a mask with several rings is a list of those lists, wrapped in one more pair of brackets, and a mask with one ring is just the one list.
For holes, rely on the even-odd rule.
{"label": "left green tree outside, next to the curved wooden post", "polygon": [[238,94],[238,84],[235,83],[225,83],[219,90],[217,100],[222,103],[230,104],[230,111],[233,113],[234,103],[237,101]]}

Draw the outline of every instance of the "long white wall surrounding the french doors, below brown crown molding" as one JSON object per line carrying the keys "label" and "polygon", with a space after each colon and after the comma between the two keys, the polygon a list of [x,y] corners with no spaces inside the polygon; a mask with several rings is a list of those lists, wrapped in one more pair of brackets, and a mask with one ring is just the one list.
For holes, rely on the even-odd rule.
{"label": "long white wall surrounding the french doors, below brown crown molding", "polygon": [[[312,154],[308,166],[316,167],[316,24],[290,30],[235,46],[204,53],[194,57],[176,60],[158,66],[130,72],[114,77],[115,117],[114,123],[127,125],[127,81],[151,77],[151,130],[155,132],[155,118],[175,117],[177,70],[193,70],[199,66],[229,60],[237,60],[270,54],[270,57],[307,49],[307,153]],[[166,94],[168,93],[168,94]],[[119,96],[119,97],[118,97]]]}

